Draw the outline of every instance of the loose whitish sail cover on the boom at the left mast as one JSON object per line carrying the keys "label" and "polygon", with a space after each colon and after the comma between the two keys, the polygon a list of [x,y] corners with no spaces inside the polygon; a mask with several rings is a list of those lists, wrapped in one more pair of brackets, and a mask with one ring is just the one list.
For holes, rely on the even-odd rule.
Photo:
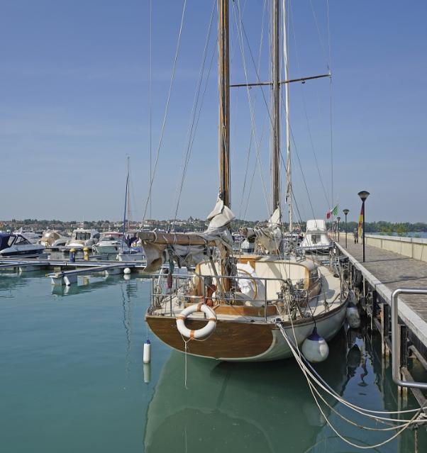
{"label": "loose whitish sail cover on the boom at the left mast", "polygon": [[[214,242],[216,247],[223,256],[226,250],[231,250],[233,246],[233,237],[231,236],[228,225],[235,218],[233,212],[228,206],[225,206],[223,201],[218,198],[214,211],[212,211],[208,220],[209,226],[204,233],[190,233],[189,244],[177,244],[177,241],[169,244],[158,244],[156,241],[143,241],[143,249],[147,258],[147,266],[145,272],[156,272],[162,267],[165,262],[173,260],[179,267],[195,267],[199,262],[209,259],[208,244]],[[179,235],[175,235],[178,237]],[[204,245],[192,244],[194,242],[204,242]]]}

